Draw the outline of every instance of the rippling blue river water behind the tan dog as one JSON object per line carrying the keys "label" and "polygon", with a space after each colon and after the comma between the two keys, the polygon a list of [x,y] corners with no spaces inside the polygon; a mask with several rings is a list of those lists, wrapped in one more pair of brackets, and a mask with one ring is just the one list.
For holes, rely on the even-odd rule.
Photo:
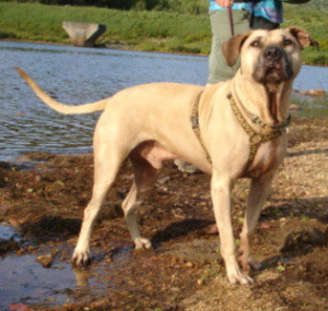
{"label": "rippling blue river water behind the tan dog", "polygon": [[[78,105],[149,82],[203,85],[208,58],[0,41],[0,160],[28,152],[87,153],[97,113],[62,116],[40,103],[14,70],[24,69],[59,101]],[[304,65],[300,91],[328,91],[328,69]],[[328,116],[327,100],[293,95],[301,116]]]}

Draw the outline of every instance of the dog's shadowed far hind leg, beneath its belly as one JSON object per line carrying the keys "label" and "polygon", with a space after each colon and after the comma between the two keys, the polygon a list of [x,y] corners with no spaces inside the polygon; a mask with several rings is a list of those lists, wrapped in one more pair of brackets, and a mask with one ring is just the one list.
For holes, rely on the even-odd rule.
{"label": "dog's shadowed far hind leg, beneath its belly", "polygon": [[122,202],[122,210],[136,249],[149,249],[151,248],[151,242],[140,235],[137,212],[144,196],[154,187],[159,169],[141,157],[131,157],[130,159],[134,170],[134,181],[130,192]]}

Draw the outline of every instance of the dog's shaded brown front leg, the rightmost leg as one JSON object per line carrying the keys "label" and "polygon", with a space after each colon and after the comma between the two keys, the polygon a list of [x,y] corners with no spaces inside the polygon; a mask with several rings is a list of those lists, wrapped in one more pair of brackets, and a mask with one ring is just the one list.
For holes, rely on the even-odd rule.
{"label": "dog's shaded brown front leg, the rightmost leg", "polygon": [[273,174],[251,180],[244,226],[241,234],[241,248],[238,250],[241,254],[239,262],[246,272],[249,271],[250,267],[254,270],[261,267],[260,263],[250,256],[250,242],[261,207],[268,198],[272,178]]}

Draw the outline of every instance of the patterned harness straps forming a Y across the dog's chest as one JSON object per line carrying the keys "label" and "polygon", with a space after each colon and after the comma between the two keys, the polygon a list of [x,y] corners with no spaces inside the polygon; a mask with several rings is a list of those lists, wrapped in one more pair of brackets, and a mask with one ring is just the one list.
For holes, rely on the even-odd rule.
{"label": "patterned harness straps forming a Y across the dog's chest", "polygon": [[242,128],[245,130],[245,132],[249,136],[250,152],[249,152],[249,157],[248,157],[248,162],[246,165],[246,168],[247,168],[253,163],[253,160],[256,156],[256,153],[262,143],[272,141],[272,140],[281,136],[282,134],[286,133],[286,127],[291,123],[291,116],[289,116],[289,118],[284,124],[279,125],[279,127],[269,127],[268,124],[262,122],[258,117],[251,118],[251,121],[254,123],[260,124],[262,128],[267,128],[266,132],[263,132],[263,133],[257,132],[249,125],[249,123],[244,118],[244,116],[241,112],[232,94],[227,94],[226,97],[230,101],[231,108],[232,108],[236,119],[238,120],[239,124],[242,125]]}

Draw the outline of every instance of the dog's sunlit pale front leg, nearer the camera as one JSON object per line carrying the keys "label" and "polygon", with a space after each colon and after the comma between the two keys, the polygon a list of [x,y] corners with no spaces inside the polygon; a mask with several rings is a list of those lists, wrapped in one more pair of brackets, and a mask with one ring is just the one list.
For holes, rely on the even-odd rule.
{"label": "dog's sunlit pale front leg, nearer the camera", "polygon": [[221,254],[224,259],[229,280],[233,284],[250,284],[251,278],[241,272],[236,260],[230,203],[232,182],[229,176],[219,176],[215,170],[213,171],[211,195],[220,232]]}

